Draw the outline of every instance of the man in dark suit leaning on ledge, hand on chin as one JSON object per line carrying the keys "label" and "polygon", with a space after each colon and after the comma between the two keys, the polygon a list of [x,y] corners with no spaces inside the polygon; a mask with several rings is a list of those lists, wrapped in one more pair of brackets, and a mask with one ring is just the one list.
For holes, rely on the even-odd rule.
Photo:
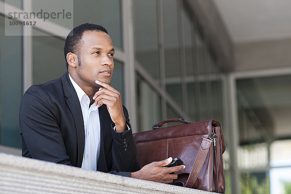
{"label": "man in dark suit leaning on ledge, hand on chin", "polygon": [[21,100],[22,156],[157,182],[176,179],[185,166],[162,168],[171,158],[139,170],[128,111],[109,85],[114,48],[108,32],[82,24],[68,34],[64,52],[68,71],[32,85]]}

